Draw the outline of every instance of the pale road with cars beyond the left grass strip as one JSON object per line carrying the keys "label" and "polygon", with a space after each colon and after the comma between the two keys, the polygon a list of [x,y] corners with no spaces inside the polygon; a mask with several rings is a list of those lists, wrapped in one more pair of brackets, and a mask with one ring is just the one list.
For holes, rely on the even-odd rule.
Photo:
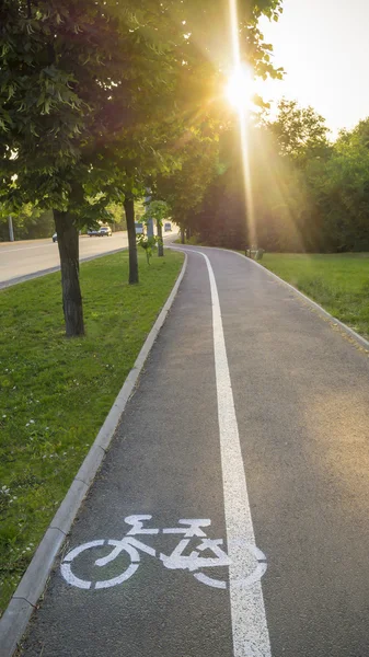
{"label": "pale road with cars beyond the left grass strip", "polygon": [[[125,231],[111,238],[80,238],[80,258],[84,260],[128,245]],[[38,272],[59,268],[58,245],[48,240],[0,244],[0,286]]]}

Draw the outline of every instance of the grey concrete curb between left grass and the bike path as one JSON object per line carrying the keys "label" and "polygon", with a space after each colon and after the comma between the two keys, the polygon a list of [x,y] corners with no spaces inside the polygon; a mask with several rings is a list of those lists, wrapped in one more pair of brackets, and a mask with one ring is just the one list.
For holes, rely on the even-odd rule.
{"label": "grey concrete curb between left grass and the bike path", "polygon": [[43,593],[50,570],[67,533],[69,532],[81,503],[93,482],[105,452],[115,434],[115,429],[130,397],[145,361],[164,324],[170,308],[178,291],[187,266],[187,255],[181,273],[168,297],[154,325],[118,393],[103,426],[101,427],[88,456],[78,471],[66,497],[54,516],[35,555],[23,575],[3,616],[0,620],[0,656],[11,657],[22,638],[31,614]]}

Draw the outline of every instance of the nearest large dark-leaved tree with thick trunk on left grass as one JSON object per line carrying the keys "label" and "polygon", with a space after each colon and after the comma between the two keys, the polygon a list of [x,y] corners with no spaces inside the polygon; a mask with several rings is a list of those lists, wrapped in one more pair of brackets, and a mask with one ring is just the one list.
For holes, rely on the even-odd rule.
{"label": "nearest large dark-leaved tree with thick trunk on left grass", "polygon": [[158,117],[154,101],[172,92],[173,58],[152,19],[161,10],[147,5],[4,0],[0,9],[1,197],[10,209],[33,201],[54,210],[67,335],[84,331],[78,228],[123,200],[115,142],[137,125],[148,134],[150,103]]}

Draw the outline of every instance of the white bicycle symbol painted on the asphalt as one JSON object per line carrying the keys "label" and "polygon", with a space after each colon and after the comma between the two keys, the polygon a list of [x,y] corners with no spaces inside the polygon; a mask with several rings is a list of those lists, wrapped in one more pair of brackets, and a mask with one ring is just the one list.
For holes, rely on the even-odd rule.
{"label": "white bicycle symbol painted on the asphalt", "polygon": [[[143,522],[147,520],[151,520],[152,516],[127,516],[125,518],[125,522],[131,526],[131,529],[126,533],[126,535],[119,541],[115,540],[99,540],[91,541],[89,543],[83,543],[78,548],[71,550],[67,556],[64,558],[61,564],[61,575],[70,584],[71,586],[77,586],[82,589],[104,589],[109,588],[112,586],[117,586],[123,581],[127,581],[132,575],[135,575],[137,568],[140,565],[140,552],[145,552],[150,556],[159,557],[159,560],[163,563],[165,568],[171,570],[189,570],[193,573],[194,577],[207,586],[212,586],[215,588],[224,589],[227,588],[227,583],[221,579],[216,579],[214,577],[209,577],[204,573],[198,573],[198,570],[203,568],[214,568],[219,566],[230,566],[231,561],[226,552],[222,550],[221,545],[223,544],[222,539],[208,539],[204,527],[209,527],[211,525],[211,520],[208,518],[184,518],[178,520],[178,525],[184,527],[173,527],[162,529],[164,534],[183,534],[184,538],[180,541],[173,552],[169,555],[157,553],[157,551],[147,545],[142,541],[135,539],[136,535],[143,534],[159,534],[159,529],[153,528],[145,528]],[[196,549],[193,550],[187,556],[184,554],[191,540],[194,538],[200,539]],[[101,581],[89,581],[87,579],[81,579],[77,577],[72,572],[72,562],[77,556],[82,554],[88,550],[93,550],[94,548],[102,548],[104,545],[111,545],[113,548],[112,552],[106,556],[97,558],[94,562],[95,566],[106,566],[111,562],[113,562],[122,552],[126,552],[130,558],[130,564],[117,577],[112,577],[111,579],[104,579]],[[255,557],[255,569],[245,578],[242,579],[243,586],[251,586],[255,581],[260,580],[266,570],[266,557],[264,553],[256,548],[256,545],[249,544],[246,546],[249,552]],[[200,556],[200,553],[204,551],[210,551],[215,556]]]}

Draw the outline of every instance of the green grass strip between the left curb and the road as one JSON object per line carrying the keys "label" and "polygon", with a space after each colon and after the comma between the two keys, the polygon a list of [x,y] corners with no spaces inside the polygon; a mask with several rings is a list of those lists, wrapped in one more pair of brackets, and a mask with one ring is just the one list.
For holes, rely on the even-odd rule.
{"label": "green grass strip between the left curb and the road", "polygon": [[128,253],[81,265],[87,337],[64,336],[60,274],[0,292],[0,611],[180,273],[166,250],[128,286]]}

